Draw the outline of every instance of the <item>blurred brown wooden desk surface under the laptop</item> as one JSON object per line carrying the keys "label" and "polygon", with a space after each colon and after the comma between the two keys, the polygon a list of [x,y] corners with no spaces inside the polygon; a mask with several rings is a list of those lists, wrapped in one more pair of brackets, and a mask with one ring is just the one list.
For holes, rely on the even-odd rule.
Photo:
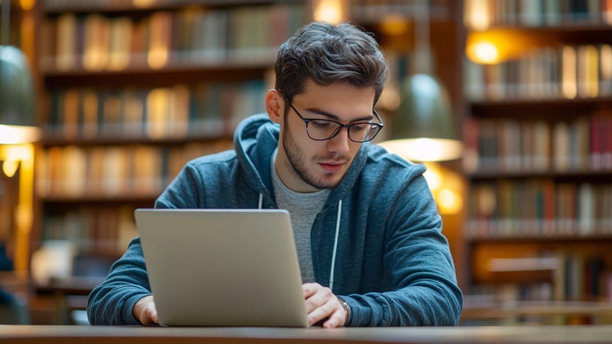
{"label": "blurred brown wooden desk surface under the laptop", "polygon": [[269,327],[0,326],[0,343],[610,343],[612,326]]}

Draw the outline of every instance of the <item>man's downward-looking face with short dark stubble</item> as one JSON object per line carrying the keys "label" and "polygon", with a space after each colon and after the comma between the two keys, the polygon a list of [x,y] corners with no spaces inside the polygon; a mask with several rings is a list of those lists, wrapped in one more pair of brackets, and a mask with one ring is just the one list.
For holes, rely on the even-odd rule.
{"label": "man's downward-looking face with short dark stubble", "polygon": [[[375,121],[373,87],[319,86],[308,80],[304,92],[297,94],[291,103],[306,119],[333,119],[343,124]],[[305,122],[291,107],[281,126],[275,166],[283,183],[298,192],[336,187],[362,144],[349,140],[346,128],[330,140],[312,140],[306,133]]]}

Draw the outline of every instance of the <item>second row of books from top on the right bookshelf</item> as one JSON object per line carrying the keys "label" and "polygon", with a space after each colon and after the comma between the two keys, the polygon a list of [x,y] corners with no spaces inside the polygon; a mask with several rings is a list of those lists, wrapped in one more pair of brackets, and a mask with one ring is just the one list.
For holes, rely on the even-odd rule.
{"label": "second row of books from top on the right bookshelf", "polygon": [[517,59],[480,65],[465,59],[471,100],[575,99],[612,95],[612,45],[537,47]]}

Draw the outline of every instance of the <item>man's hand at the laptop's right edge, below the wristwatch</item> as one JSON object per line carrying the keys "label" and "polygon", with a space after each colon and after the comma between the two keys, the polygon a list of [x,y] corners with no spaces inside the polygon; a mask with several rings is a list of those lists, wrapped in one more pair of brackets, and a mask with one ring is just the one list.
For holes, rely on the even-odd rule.
{"label": "man's hand at the laptop's right edge, below the wristwatch", "polygon": [[325,320],[323,327],[327,329],[344,326],[346,312],[338,301],[338,297],[329,288],[318,283],[304,283],[302,290],[306,301],[308,325],[312,326]]}

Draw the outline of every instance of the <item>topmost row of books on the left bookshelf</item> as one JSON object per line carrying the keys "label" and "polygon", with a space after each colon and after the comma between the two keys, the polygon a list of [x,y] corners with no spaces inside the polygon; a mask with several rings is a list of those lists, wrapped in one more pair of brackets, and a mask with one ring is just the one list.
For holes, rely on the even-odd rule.
{"label": "topmost row of books on the left bookshelf", "polygon": [[278,47],[304,24],[304,15],[296,4],[188,7],[145,18],[62,13],[43,22],[42,70],[272,62]]}

